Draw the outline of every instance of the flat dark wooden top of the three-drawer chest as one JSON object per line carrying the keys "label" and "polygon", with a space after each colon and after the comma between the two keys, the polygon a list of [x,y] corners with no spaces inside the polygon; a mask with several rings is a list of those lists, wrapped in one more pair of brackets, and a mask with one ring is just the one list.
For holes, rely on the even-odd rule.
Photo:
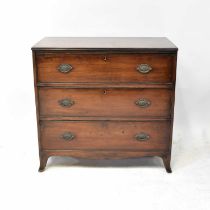
{"label": "flat dark wooden top of the three-drawer chest", "polygon": [[46,37],[32,50],[135,50],[176,52],[177,47],[165,37]]}

